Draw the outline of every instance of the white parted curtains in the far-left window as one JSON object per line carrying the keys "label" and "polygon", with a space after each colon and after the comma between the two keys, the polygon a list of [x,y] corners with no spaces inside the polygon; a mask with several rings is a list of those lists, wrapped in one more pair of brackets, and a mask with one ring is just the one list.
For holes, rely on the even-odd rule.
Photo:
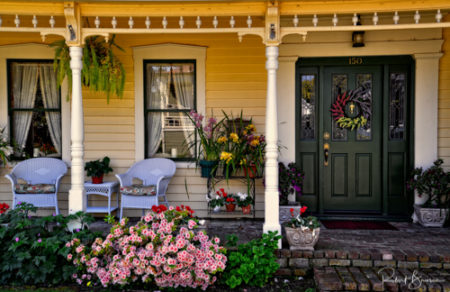
{"label": "white parted curtains in the far-left window", "polygon": [[[33,109],[38,79],[44,108],[60,108],[60,96],[56,74],[51,64],[13,64],[14,108]],[[50,137],[56,151],[61,154],[61,113],[45,112]],[[15,111],[13,118],[14,138],[24,148],[33,118],[32,111]]]}

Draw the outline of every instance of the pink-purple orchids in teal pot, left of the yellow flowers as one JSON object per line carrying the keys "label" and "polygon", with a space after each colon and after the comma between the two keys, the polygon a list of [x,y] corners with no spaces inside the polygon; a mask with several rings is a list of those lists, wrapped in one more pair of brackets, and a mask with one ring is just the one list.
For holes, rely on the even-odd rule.
{"label": "pink-purple orchids in teal pot, left of the yellow flowers", "polygon": [[[205,178],[214,177],[219,161],[219,144],[217,139],[223,120],[217,122],[214,117],[210,117],[204,126],[204,116],[195,110],[192,110],[188,117],[194,124],[200,138],[200,155],[197,162],[201,167],[201,176]],[[196,147],[196,144],[189,145],[189,147]]]}

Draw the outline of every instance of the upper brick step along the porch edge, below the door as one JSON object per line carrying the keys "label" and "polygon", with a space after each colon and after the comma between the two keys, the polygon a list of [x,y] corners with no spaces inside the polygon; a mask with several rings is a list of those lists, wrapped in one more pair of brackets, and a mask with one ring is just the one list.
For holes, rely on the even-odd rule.
{"label": "upper brick step along the porch edge, below the door", "polygon": [[358,267],[398,269],[447,269],[450,270],[449,254],[426,252],[391,252],[378,250],[316,250],[277,251],[280,264],[279,275],[302,275],[314,267]]}

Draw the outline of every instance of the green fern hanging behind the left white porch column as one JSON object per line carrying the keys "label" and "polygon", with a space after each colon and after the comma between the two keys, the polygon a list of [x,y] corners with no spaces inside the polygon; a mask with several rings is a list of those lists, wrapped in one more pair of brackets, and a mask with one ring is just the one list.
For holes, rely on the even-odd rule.
{"label": "green fern hanging behind the left white porch column", "polygon": [[[114,42],[115,37],[113,35],[109,42],[98,36],[89,37],[83,48],[81,82],[90,90],[105,92],[108,102],[111,94],[121,98],[125,87],[125,69],[114,55],[113,47],[124,50]],[[61,85],[66,76],[69,84],[72,84],[69,47],[64,40],[50,46],[55,48],[53,68],[57,73],[58,84]]]}

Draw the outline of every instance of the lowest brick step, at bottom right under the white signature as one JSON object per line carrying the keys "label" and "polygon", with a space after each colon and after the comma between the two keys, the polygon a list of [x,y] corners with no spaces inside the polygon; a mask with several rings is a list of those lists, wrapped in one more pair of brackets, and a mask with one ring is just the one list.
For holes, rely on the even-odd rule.
{"label": "lowest brick step, at bottom right under the white signature", "polygon": [[316,267],[318,291],[445,291],[450,270],[361,267]]}

